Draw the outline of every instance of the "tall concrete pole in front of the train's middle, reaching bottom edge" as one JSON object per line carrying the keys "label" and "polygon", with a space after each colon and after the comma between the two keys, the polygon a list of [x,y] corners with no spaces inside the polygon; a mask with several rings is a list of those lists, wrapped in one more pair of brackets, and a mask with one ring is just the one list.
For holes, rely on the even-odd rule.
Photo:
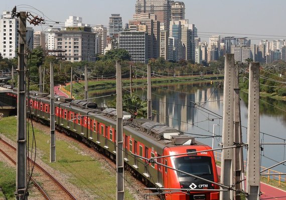
{"label": "tall concrete pole in front of the train's middle, reaching bottom edge", "polygon": [[123,108],[121,65],[116,61],[116,200],[124,200]]}

